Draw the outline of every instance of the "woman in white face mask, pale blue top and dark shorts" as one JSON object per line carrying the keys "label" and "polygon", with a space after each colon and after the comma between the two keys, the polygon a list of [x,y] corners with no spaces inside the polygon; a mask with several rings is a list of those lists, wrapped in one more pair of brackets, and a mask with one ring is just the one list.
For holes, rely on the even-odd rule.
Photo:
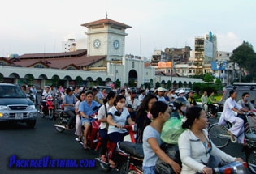
{"label": "woman in white face mask, pale blue top and dark shorts", "polygon": [[[125,123],[128,122],[129,125],[135,124],[128,112],[128,108],[124,106],[125,96],[117,95],[114,106],[107,112],[106,121],[109,124],[107,134],[109,141],[115,142],[115,144],[117,142],[123,142],[124,136],[128,135],[127,129],[124,129]],[[111,168],[115,168],[115,154],[116,151],[113,152],[112,158],[109,160]]]}

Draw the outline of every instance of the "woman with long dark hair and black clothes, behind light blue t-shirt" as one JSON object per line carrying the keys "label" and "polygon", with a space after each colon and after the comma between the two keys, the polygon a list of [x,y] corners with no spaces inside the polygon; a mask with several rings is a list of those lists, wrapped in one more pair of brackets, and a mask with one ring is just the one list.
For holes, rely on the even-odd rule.
{"label": "woman with long dark hair and black clothes, behind light blue t-shirt", "polygon": [[158,100],[158,97],[153,94],[145,95],[144,100],[141,103],[141,107],[137,113],[137,117],[135,119],[137,123],[137,136],[136,142],[142,142],[142,135],[145,129],[145,126],[150,125],[151,123],[151,114],[150,110],[154,102]]}

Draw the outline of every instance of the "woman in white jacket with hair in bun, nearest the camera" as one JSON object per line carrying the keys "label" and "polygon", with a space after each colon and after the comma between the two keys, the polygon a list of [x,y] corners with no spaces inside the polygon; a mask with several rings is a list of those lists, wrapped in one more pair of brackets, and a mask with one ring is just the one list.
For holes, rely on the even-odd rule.
{"label": "woman in white jacket with hair in bun, nearest the camera", "polygon": [[221,161],[231,163],[243,160],[219,150],[208,137],[206,127],[209,125],[206,112],[200,107],[191,107],[186,112],[178,144],[182,162],[182,174],[212,174],[212,168],[218,167]]}

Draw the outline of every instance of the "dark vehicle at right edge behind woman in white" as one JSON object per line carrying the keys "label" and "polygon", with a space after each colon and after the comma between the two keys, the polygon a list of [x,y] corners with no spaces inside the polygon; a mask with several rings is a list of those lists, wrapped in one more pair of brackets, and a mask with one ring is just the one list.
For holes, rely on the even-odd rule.
{"label": "dark vehicle at right edge behind woman in white", "polygon": [[[233,83],[233,85],[226,87],[225,91],[223,92],[222,98],[219,101],[219,111],[223,111],[223,104],[228,99],[229,91],[232,89],[237,91],[236,102],[241,100],[241,96],[244,92],[249,93],[249,101],[251,101],[253,104],[254,101],[256,101],[256,83]],[[256,107],[255,104],[254,107]]]}

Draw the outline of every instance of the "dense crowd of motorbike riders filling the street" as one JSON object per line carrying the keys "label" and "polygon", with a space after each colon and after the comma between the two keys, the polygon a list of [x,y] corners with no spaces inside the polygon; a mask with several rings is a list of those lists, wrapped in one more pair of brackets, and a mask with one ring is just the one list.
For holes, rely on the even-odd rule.
{"label": "dense crowd of motorbike riders filling the street", "polygon": [[[88,148],[87,134],[92,121],[90,114],[93,108],[98,108],[102,161],[106,161],[106,143],[122,142],[128,134],[124,125],[137,124],[136,142],[143,146],[144,173],[208,174],[213,173],[212,168],[222,161],[242,162],[241,158],[224,153],[210,142],[206,131],[209,122],[205,110],[214,110],[214,93],[208,97],[204,92],[202,108],[197,106],[193,93],[190,91],[185,94],[180,90],[176,94],[175,90],[163,87],[154,91],[122,87],[106,93],[104,89],[100,91],[99,87],[67,87],[64,90],[61,86],[57,89],[51,86],[46,87],[42,98],[51,95],[58,99],[59,106],[71,117],[66,129],[70,129],[72,122],[76,121],[76,140],[84,139],[85,149]],[[231,98],[234,100],[235,96],[232,95],[233,93]],[[229,105],[232,109],[232,105]],[[226,108],[224,106],[224,111]],[[217,111],[214,110],[213,114],[215,112]],[[115,168],[115,155],[109,163],[111,168]]]}

